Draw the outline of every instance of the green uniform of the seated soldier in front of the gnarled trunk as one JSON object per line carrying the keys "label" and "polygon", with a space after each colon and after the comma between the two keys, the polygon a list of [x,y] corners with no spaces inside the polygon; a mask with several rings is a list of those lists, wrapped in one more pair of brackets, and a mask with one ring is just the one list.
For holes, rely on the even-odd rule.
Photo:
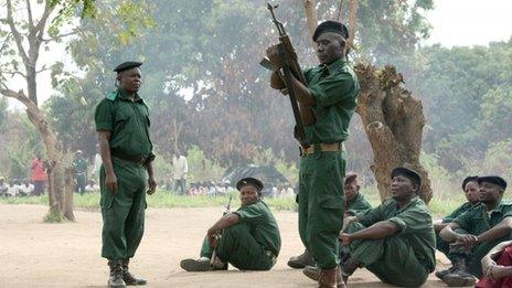
{"label": "green uniform of the seated soldier in front of the gnarled trunk", "polygon": [[430,212],[419,198],[403,209],[390,199],[358,218],[349,226],[349,234],[381,221],[397,225],[398,233],[381,239],[354,241],[349,245],[352,259],[383,282],[417,287],[427,280],[436,266],[436,237]]}

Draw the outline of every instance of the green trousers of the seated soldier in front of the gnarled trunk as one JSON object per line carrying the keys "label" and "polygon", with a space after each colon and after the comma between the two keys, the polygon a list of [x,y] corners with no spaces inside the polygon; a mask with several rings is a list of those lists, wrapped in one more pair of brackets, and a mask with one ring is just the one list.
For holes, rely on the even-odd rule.
{"label": "green trousers of the seated soldier in front of the gnarled trunk", "polygon": [[[349,233],[365,228],[354,222]],[[349,245],[350,257],[363,264],[383,282],[402,287],[418,287],[425,284],[428,268],[414,255],[412,246],[399,236],[382,239],[354,241]]]}

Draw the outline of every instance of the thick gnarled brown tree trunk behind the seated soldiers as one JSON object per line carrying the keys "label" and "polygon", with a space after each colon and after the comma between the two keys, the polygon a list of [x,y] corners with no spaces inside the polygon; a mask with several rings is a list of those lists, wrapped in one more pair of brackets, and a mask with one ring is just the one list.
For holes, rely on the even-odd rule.
{"label": "thick gnarled brown tree trunk behind the seated soldiers", "polygon": [[[356,28],[356,0],[351,0],[350,9],[349,44],[352,44]],[[306,15],[309,17],[310,12]],[[354,71],[361,86],[356,113],[372,146],[374,163],[370,168],[377,181],[381,200],[390,196],[391,171],[396,167],[406,167],[422,177],[419,196],[428,203],[433,196],[430,180],[419,163],[425,126],[422,102],[403,87],[402,74],[396,73],[393,66],[377,71],[371,64],[358,64]]]}

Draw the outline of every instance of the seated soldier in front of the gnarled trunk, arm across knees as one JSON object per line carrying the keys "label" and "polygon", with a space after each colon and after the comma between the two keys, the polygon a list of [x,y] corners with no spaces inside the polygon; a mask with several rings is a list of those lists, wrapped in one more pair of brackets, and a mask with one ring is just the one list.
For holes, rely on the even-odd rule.
{"label": "seated soldier in front of the gnarled trunk, arm across knees", "polygon": [[360,267],[397,286],[416,287],[427,280],[436,266],[436,236],[430,212],[417,196],[420,186],[415,171],[395,168],[392,199],[364,215],[345,218],[340,233],[350,250],[340,266],[345,282]]}

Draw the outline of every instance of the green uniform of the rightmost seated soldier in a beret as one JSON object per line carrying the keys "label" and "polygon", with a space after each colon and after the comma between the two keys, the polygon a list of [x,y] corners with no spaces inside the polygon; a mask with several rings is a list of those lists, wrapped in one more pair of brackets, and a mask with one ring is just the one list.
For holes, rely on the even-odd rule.
{"label": "green uniform of the rightmost seated soldier in a beret", "polygon": [[[469,209],[466,213],[456,217],[452,222],[459,224],[460,228],[466,231],[469,234],[480,235],[483,232],[498,225],[503,218],[512,216],[512,203],[500,203],[495,209],[489,213],[486,211],[486,205],[483,203],[478,204]],[[494,247],[497,244],[509,241],[512,238],[512,234],[508,235],[500,239],[494,239],[491,242],[480,243],[474,246],[469,254],[469,271],[481,278],[482,276],[482,266],[481,260],[489,250]],[[450,250],[450,254],[466,255],[467,252],[462,249],[454,248]]]}

